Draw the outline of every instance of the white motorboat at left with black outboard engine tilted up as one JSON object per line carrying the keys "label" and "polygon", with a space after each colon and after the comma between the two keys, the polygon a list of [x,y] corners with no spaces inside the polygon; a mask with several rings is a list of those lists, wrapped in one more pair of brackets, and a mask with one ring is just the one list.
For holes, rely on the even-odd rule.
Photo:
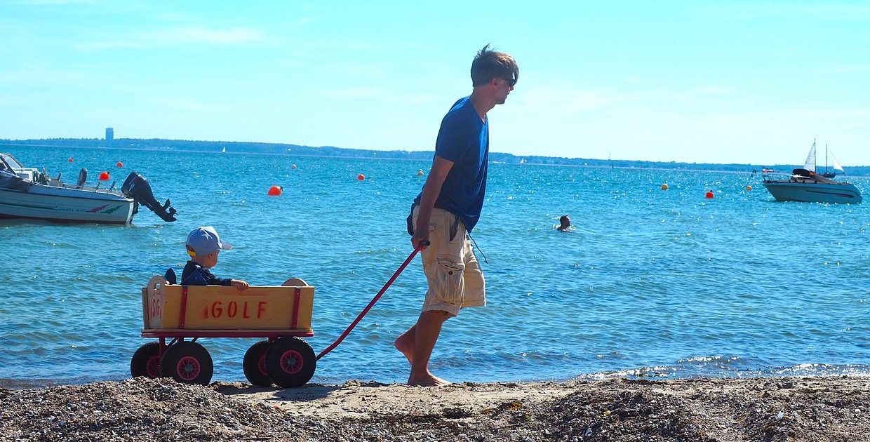
{"label": "white motorboat at left with black outboard engine tilted up", "polygon": [[151,194],[151,185],[132,172],[121,190],[84,185],[82,169],[77,184],[64,184],[48,171],[24,167],[15,157],[0,153],[0,218],[33,218],[69,223],[129,224],[138,204],[165,221],[175,221],[170,201],[161,206]]}

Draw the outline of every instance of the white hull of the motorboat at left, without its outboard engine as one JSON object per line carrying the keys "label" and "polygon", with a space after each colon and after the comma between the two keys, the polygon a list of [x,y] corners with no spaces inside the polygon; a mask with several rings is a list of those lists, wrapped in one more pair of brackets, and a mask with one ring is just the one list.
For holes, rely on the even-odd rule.
{"label": "white hull of the motorboat at left, without its outboard engine", "polygon": [[45,219],[65,223],[129,224],[134,203],[117,192],[42,184],[28,191],[0,189],[0,218]]}

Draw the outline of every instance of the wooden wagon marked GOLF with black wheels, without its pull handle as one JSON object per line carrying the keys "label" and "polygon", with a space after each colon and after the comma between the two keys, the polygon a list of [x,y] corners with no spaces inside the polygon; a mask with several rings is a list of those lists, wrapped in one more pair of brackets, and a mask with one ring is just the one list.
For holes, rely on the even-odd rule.
{"label": "wooden wagon marked GOLF with black wheels, without its pull handle", "polygon": [[314,287],[291,278],[281,286],[239,291],[224,285],[174,285],[155,276],[142,289],[143,338],[130,372],[207,385],[214,365],[199,338],[264,338],[244,354],[253,385],[305,385],[317,365],[311,345]]}

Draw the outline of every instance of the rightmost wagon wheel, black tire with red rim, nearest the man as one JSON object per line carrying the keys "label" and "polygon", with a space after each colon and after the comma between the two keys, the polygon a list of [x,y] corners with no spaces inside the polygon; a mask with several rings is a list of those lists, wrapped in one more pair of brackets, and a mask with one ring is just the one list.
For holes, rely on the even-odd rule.
{"label": "rightmost wagon wheel, black tire with red rim, nearest the man", "polygon": [[284,388],[305,385],[314,376],[316,365],[311,345],[295,336],[278,338],[266,351],[266,372],[272,382]]}

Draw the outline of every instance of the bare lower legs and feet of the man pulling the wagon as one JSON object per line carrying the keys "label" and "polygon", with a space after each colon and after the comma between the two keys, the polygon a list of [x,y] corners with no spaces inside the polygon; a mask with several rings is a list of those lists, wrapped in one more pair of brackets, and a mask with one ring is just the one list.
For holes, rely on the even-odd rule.
{"label": "bare lower legs and feet of the man pulling the wagon", "polygon": [[429,358],[432,357],[432,349],[438,342],[441,326],[444,321],[451,318],[446,311],[424,311],[420,313],[417,324],[396,338],[393,345],[408,362],[411,363],[411,374],[408,376],[408,385],[437,386],[447,385],[450,382],[438,378],[429,372]]}

